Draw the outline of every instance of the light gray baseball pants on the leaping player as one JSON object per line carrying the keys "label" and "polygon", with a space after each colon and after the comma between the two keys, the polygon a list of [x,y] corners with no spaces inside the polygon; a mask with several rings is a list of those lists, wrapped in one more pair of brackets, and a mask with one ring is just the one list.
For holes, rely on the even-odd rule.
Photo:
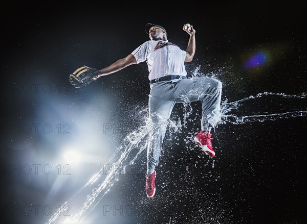
{"label": "light gray baseball pants on the leaping player", "polygon": [[147,175],[150,175],[159,163],[167,120],[174,105],[188,101],[202,101],[201,127],[206,131],[209,125],[216,126],[221,95],[222,83],[209,77],[150,84],[148,107],[152,127],[147,148]]}

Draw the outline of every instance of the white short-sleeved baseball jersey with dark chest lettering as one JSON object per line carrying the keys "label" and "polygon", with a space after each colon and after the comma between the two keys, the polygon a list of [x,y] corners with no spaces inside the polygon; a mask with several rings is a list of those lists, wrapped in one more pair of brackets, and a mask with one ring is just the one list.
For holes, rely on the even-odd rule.
{"label": "white short-sleeved baseball jersey with dark chest lettering", "polygon": [[169,74],[186,76],[184,66],[186,52],[177,45],[164,40],[148,40],[131,54],[140,62],[147,62],[148,79],[153,80]]}

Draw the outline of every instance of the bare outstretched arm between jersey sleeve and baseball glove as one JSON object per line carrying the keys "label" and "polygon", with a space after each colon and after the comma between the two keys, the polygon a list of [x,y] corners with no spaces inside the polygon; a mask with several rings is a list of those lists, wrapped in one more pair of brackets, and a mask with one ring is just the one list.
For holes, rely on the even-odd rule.
{"label": "bare outstretched arm between jersey sleeve and baseball glove", "polygon": [[114,62],[113,64],[98,70],[98,78],[101,77],[101,76],[106,76],[107,74],[112,74],[114,72],[117,72],[117,71],[129,66],[129,65],[133,65],[133,64],[136,64],[136,63],[137,63],[137,60],[133,56],[133,54],[129,54],[127,57],[119,59],[116,62]]}

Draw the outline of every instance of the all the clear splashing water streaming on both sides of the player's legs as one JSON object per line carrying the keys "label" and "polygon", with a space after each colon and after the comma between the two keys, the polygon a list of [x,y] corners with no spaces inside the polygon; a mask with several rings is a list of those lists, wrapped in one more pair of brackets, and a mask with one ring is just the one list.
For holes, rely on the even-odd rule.
{"label": "all the clear splashing water streaming on both sides of the player's legs", "polygon": [[[196,72],[197,73],[197,72]],[[231,123],[233,125],[242,125],[250,122],[264,122],[266,120],[276,120],[283,118],[295,118],[307,116],[307,111],[303,108],[297,111],[288,111],[282,113],[267,113],[267,114],[252,114],[239,116],[235,115],[235,111],[243,106],[243,103],[255,101],[260,97],[276,96],[281,98],[302,99],[306,97],[306,92],[298,95],[288,95],[285,93],[263,92],[256,96],[249,96],[239,99],[235,102],[228,103],[226,99],[221,104],[221,112],[215,117],[218,125]],[[189,101],[184,101],[183,123],[178,121],[165,120],[172,133],[182,130],[182,127],[187,127],[188,117],[192,114],[193,109]],[[128,165],[134,164],[137,157],[145,150],[148,140],[148,133],[155,128],[148,120],[148,108],[141,110],[140,115],[144,120],[144,125],[137,130],[128,134],[122,145],[117,149],[117,152],[112,156],[110,161],[115,160],[109,167],[103,167],[96,172],[87,183],[75,193],[69,201],[65,202],[61,208],[55,213],[48,223],[79,223],[97,206],[104,195],[118,180],[119,174],[125,172]],[[134,153],[131,153],[134,152]],[[119,158],[116,158],[119,157]],[[214,162],[212,163],[214,167]]]}

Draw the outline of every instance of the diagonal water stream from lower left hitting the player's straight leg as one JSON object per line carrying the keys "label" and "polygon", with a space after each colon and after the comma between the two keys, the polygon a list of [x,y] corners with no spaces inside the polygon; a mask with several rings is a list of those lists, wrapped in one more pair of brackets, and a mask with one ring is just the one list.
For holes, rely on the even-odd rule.
{"label": "diagonal water stream from lower left hitting the player's straight leg", "polygon": [[[145,138],[148,137],[150,132],[158,128],[149,121],[148,109],[144,109],[140,113],[145,113],[143,114],[145,125],[128,134],[122,146],[118,148],[117,153],[110,160],[112,161],[120,155],[119,159],[112,165],[104,165],[96,172],[70,200],[59,208],[47,223],[80,223],[98,205],[113,184],[118,181],[120,173],[125,173],[125,168],[134,164],[137,157],[147,147],[147,139]],[[169,119],[164,119],[163,122],[167,122],[168,127],[172,128],[173,132],[180,129],[177,122]],[[137,151],[135,155],[131,155],[133,151]]]}

